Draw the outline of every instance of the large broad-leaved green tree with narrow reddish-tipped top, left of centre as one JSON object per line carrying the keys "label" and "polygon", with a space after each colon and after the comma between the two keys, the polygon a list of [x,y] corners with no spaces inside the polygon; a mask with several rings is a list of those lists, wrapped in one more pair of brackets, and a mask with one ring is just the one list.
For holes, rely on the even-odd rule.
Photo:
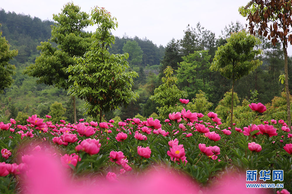
{"label": "large broad-leaved green tree with narrow reddish-tipped top, left of centre", "polygon": [[133,92],[133,77],[136,72],[125,72],[129,68],[128,54],[110,54],[108,48],[114,44],[114,30],[118,24],[115,17],[104,8],[95,7],[91,11],[91,24],[98,24],[93,34],[94,41],[84,57],[75,57],[76,65],[67,69],[70,86],[68,94],[85,100],[86,112],[101,122],[102,111],[107,113],[119,106],[126,106],[139,97]]}

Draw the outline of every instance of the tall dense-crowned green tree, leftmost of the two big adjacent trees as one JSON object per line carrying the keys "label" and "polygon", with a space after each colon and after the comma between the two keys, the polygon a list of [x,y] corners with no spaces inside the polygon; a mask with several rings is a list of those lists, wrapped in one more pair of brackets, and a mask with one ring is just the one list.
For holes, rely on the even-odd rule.
{"label": "tall dense-crowned green tree, leftmost of the two big adjacent trees", "polygon": [[[91,33],[83,29],[90,23],[89,15],[80,11],[79,6],[67,3],[62,13],[54,14],[55,25],[51,26],[50,42],[41,42],[37,47],[41,55],[36,57],[35,63],[24,71],[29,76],[37,77],[37,83],[54,85],[67,90],[71,83],[68,82],[67,67],[74,64],[73,56],[83,56],[91,45]],[[51,42],[57,43],[57,48]],[[72,96],[74,123],[76,123],[75,97]]]}

